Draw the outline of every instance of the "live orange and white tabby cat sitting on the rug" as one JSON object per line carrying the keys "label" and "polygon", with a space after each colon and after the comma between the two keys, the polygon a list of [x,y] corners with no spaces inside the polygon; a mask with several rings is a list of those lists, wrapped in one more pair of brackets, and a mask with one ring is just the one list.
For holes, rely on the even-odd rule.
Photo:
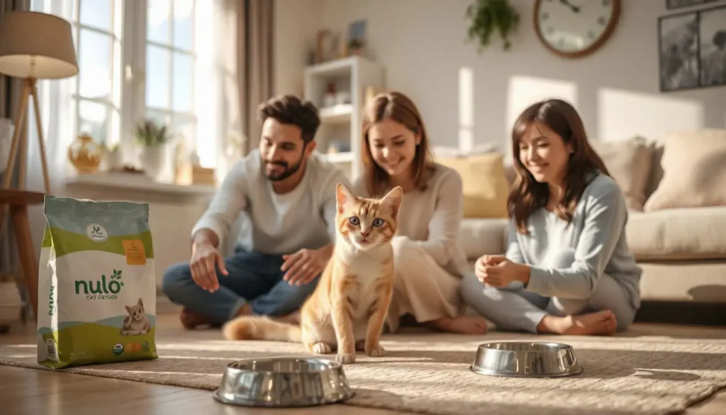
{"label": "live orange and white tabby cat sitting on the rug", "polygon": [[399,187],[380,199],[358,198],[338,183],[333,257],[301,307],[300,326],[240,316],[224,325],[224,337],[302,342],[316,354],[337,350],[340,363],[354,363],[356,350],[383,356],[379,339],[393,292],[391,238],[402,198]]}

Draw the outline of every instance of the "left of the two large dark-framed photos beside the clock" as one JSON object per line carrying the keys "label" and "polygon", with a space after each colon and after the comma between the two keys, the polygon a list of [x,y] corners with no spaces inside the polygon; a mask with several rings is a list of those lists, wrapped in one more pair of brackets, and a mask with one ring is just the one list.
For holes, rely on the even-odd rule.
{"label": "left of the two large dark-framed photos beside the clock", "polygon": [[697,88],[698,13],[688,12],[658,18],[658,70],[661,91]]}

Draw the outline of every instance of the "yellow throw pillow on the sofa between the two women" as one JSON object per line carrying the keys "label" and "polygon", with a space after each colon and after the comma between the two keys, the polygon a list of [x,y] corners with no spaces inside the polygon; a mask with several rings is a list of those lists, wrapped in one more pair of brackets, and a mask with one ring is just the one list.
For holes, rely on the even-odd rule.
{"label": "yellow throw pillow on the sofa between the two women", "polygon": [[438,158],[461,176],[465,218],[507,217],[509,183],[501,153]]}

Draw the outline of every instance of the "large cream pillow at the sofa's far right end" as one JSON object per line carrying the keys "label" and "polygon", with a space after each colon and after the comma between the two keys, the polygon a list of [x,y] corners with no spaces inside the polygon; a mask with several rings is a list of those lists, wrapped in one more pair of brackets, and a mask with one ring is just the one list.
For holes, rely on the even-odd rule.
{"label": "large cream pillow at the sofa's far right end", "polygon": [[669,134],[661,166],[663,178],[645,211],[726,206],[726,129]]}

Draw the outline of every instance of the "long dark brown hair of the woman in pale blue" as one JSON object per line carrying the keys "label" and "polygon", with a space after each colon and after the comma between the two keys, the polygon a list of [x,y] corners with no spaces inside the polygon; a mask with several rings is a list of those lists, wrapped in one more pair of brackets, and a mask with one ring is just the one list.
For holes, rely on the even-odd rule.
{"label": "long dark brown hair of the woman in pale blue", "polygon": [[555,213],[560,219],[567,222],[572,220],[577,202],[588,185],[590,173],[599,170],[602,174],[610,175],[602,158],[587,141],[582,119],[572,105],[563,100],[546,100],[530,105],[517,118],[512,129],[512,154],[517,175],[507,199],[509,216],[515,219],[517,230],[525,235],[529,233],[526,220],[534,211],[547,206],[550,200],[547,183],[534,180],[519,158],[519,143],[527,127],[533,123],[552,129],[573,150],[566,167],[563,198],[555,207]]}

